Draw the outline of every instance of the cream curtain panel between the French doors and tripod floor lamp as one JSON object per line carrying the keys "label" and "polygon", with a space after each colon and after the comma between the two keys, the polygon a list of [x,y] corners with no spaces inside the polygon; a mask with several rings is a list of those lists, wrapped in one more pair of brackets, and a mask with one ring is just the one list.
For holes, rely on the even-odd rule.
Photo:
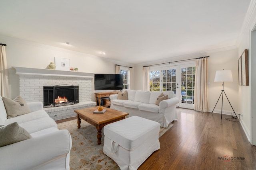
{"label": "cream curtain panel between the French doors and tripod floor lamp", "polygon": [[208,111],[207,70],[207,57],[196,59],[194,94],[194,109],[196,111]]}

